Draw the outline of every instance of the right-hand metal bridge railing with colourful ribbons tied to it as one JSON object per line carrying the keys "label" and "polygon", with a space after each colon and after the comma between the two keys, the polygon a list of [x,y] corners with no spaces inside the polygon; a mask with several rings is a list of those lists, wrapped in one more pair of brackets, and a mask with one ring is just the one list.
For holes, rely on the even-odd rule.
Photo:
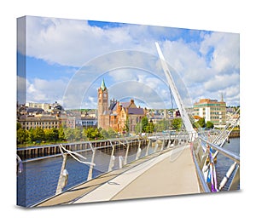
{"label": "right-hand metal bridge railing with colourful ribbons tied to it", "polygon": [[[229,180],[230,186],[227,190],[237,189],[240,181],[240,156],[215,144],[214,139],[217,136],[214,132],[213,134],[213,137],[210,132],[200,134],[192,144],[192,154],[202,191],[221,191]],[[218,152],[233,162],[220,182],[217,180],[220,177],[215,168]]]}

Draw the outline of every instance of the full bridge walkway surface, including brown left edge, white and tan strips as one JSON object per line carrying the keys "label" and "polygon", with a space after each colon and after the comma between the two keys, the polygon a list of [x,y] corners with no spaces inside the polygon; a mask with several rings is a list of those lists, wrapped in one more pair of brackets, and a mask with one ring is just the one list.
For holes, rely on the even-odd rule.
{"label": "full bridge walkway surface, including brown left edge, white and tan strips", "polygon": [[138,159],[51,197],[37,206],[200,193],[189,144]]}

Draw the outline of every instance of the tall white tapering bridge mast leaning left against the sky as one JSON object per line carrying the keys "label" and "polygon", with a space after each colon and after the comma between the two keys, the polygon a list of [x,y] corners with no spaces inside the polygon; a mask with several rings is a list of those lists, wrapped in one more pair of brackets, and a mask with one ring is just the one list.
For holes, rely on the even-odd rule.
{"label": "tall white tapering bridge mast leaning left against the sky", "polygon": [[160,46],[159,46],[158,43],[155,43],[155,45],[156,45],[156,49],[157,49],[157,52],[158,52],[160,60],[161,60],[162,68],[163,68],[163,70],[166,74],[167,82],[170,86],[170,89],[172,90],[172,94],[173,94],[174,100],[176,102],[177,108],[178,108],[178,110],[180,112],[180,115],[183,119],[183,124],[184,124],[187,132],[189,134],[191,134],[191,140],[194,140],[195,139],[195,133],[196,133],[195,129],[193,129],[193,126],[192,126],[192,124],[189,120],[189,115],[188,115],[187,111],[185,110],[185,106],[183,106],[183,100],[181,99],[180,95],[178,94],[177,88],[176,88],[175,83],[172,79],[172,74],[168,69],[168,66],[166,64],[166,60],[164,58],[164,55],[162,54]]}

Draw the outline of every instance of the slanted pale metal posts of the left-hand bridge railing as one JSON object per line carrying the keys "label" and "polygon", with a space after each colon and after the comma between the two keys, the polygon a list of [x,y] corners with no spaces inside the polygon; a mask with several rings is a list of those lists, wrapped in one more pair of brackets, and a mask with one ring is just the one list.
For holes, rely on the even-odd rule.
{"label": "slanted pale metal posts of the left-hand bridge railing", "polygon": [[[132,143],[137,142],[137,152],[136,156],[133,157],[133,159],[130,160],[130,162],[135,161],[139,158],[142,157],[147,157],[150,154],[153,154],[155,152],[161,152],[167,148],[170,148],[172,146],[177,146],[181,145],[183,143],[187,143],[189,141],[190,135],[185,133],[185,132],[177,132],[175,134],[165,134],[165,133],[158,133],[158,134],[151,134],[151,136],[148,137],[148,135],[145,135],[144,137],[129,137],[129,138],[124,138],[124,139],[111,139],[108,140],[110,145],[108,148],[110,148],[110,155],[109,155],[109,161],[108,161],[108,171],[110,172],[114,168],[114,163],[116,162],[118,158],[118,163],[119,163],[119,169],[123,168],[125,164],[128,163],[128,154],[129,150],[132,146]],[[145,152],[142,154],[142,142],[143,140],[147,140],[147,146],[144,148]],[[125,156],[115,156],[115,149],[117,146],[123,146],[125,149]],[[60,173],[60,178],[59,178],[59,183],[57,186],[56,194],[62,192],[62,189],[66,186],[65,181],[67,181],[67,170],[65,169],[66,167],[66,162],[67,158],[64,156],[64,154],[68,153],[69,155],[75,154],[78,156],[77,152],[71,152],[68,151],[64,146],[60,145],[61,147],[61,152],[63,156],[63,163],[61,165],[61,173]],[[90,143],[90,150],[92,151],[92,156],[90,158],[90,162],[87,162],[85,164],[90,165],[90,170],[89,174],[87,177],[87,180],[92,179],[92,171],[96,167],[95,162],[95,157],[96,157],[96,151],[101,150],[101,147],[93,147],[92,144]],[[149,152],[149,149],[151,149],[151,152]],[[80,156],[79,156],[80,157]],[[83,158],[83,157],[82,157]],[[84,157],[85,159],[85,157]],[[78,160],[78,159],[77,159]],[[78,160],[81,162],[80,160]],[[82,163],[82,162],[81,162]],[[64,175],[63,175],[64,173]]]}

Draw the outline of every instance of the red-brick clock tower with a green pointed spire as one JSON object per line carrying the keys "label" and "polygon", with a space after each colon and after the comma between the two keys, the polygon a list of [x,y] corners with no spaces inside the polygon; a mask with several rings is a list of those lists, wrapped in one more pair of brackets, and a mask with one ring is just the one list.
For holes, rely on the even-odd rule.
{"label": "red-brick clock tower with a green pointed spire", "polygon": [[102,85],[98,89],[98,128],[108,129],[108,127],[108,89],[103,79]]}

